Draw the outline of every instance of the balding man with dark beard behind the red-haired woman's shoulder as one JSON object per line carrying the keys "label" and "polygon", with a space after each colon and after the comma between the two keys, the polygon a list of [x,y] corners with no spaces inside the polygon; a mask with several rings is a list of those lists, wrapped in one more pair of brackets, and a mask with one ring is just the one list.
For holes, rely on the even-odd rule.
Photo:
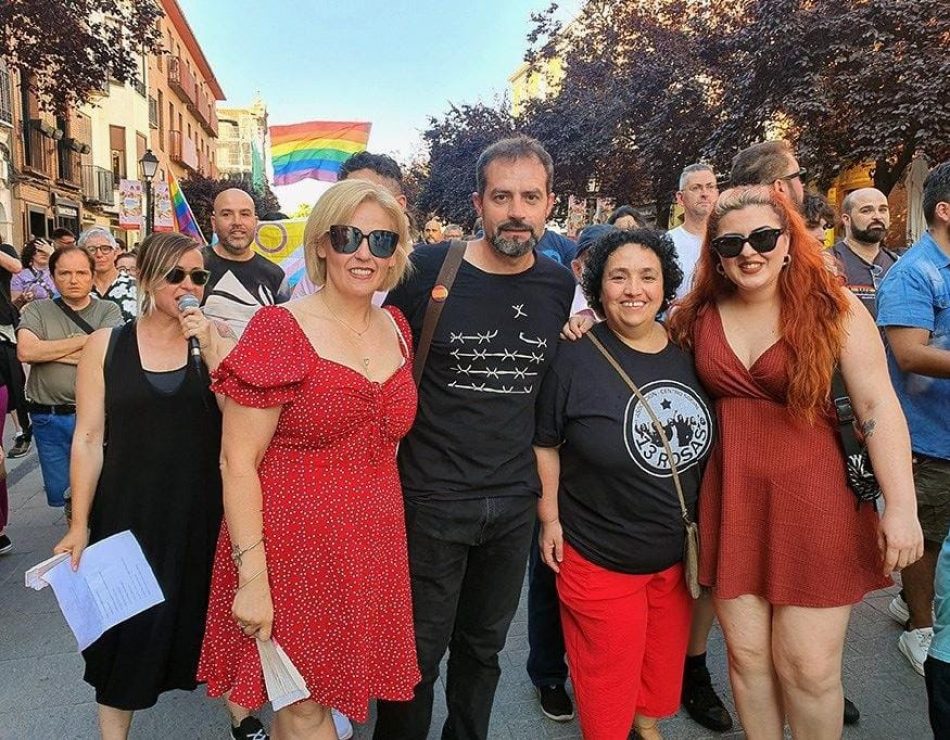
{"label": "balding man with dark beard behind the red-haired woman's shoulder", "polygon": [[897,262],[882,244],[891,225],[887,196],[877,188],[861,188],[841,201],[844,238],[831,248],[838,272],[848,290],[877,316],[877,286]]}

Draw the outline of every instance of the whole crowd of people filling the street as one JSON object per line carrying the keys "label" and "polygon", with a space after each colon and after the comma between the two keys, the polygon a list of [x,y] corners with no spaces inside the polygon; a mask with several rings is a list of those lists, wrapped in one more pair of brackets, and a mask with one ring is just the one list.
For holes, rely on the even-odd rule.
{"label": "whole crowd of people filling the street", "polygon": [[547,227],[553,166],[492,144],[478,230],[413,244],[398,165],[356,154],[293,290],[237,189],[210,247],[0,247],[0,405],[70,508],[54,549],[78,567],[131,530],[165,595],[83,653],[103,738],[203,683],[264,740],[268,640],[309,691],[272,737],[351,737],[375,701],[377,740],[424,740],[447,652],[442,737],[488,738],[526,576],[527,672],[585,738],[656,740],[681,706],[731,729],[717,619],[748,737],[838,737],[851,610],[897,571],[896,647],[950,736],[950,163],[903,254],[883,193],[836,214],[786,142],[722,192],[684,166],[669,232],[622,206],[576,243]]}

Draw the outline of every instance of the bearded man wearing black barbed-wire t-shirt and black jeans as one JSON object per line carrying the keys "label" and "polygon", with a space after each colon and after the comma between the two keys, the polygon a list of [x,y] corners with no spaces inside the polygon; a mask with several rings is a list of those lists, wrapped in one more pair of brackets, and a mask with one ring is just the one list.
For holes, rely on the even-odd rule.
{"label": "bearded man wearing black barbed-wire t-shirt and black jeans", "polygon": [[[377,740],[424,740],[449,649],[444,737],[486,738],[498,653],[518,606],[540,493],[534,401],[574,296],[571,273],[537,243],[554,203],[551,157],[506,139],[478,161],[484,235],[468,243],[432,339],[416,422],[399,449],[416,652],[409,702],[380,701]],[[412,254],[389,293],[418,344],[448,251]]]}

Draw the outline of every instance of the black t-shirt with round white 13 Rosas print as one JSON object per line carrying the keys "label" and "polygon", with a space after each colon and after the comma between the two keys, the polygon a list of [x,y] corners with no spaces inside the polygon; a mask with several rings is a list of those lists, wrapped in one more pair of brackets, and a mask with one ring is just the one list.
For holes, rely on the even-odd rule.
{"label": "black t-shirt with round white 13 Rosas print", "polygon": [[[656,354],[592,330],[666,430],[691,516],[712,449],[712,404],[693,358],[670,342]],[[565,539],[591,562],[657,573],[683,557],[683,518],[663,443],[650,417],[592,342],[561,342],[537,406],[535,444],[561,445],[558,509]]]}

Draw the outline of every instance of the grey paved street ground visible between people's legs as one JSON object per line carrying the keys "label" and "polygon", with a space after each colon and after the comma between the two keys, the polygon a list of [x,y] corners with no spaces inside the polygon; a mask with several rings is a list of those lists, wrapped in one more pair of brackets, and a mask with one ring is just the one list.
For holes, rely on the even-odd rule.
{"label": "grey paved street ground visible between people's legs", "polygon": [[[7,440],[9,444],[9,440]],[[7,447],[7,445],[5,445]],[[7,449],[9,449],[7,447]],[[9,534],[14,551],[0,557],[0,739],[59,740],[95,738],[93,692],[82,681],[82,659],[60,615],[50,589],[33,592],[23,586],[23,571],[47,558],[64,531],[64,520],[46,506],[35,452],[8,461],[11,488]],[[890,592],[872,594],[851,621],[845,653],[845,690],[862,712],[861,723],[846,738],[931,737],[926,719],[924,680],[897,651],[900,628],[886,614]],[[525,599],[502,656],[502,677],[492,719],[493,740],[579,738],[576,720],[556,724],[543,717],[524,671],[528,654]],[[725,658],[718,631],[710,649],[710,667],[720,686],[726,685]],[[730,709],[731,696],[729,697]],[[444,703],[437,698],[436,721]],[[371,723],[356,737],[368,738]],[[667,738],[717,737],[678,716],[662,729]],[[134,738],[227,737],[223,708],[193,694],[176,692],[140,713]],[[438,731],[430,733],[437,738]],[[744,737],[736,732],[722,737]]]}

